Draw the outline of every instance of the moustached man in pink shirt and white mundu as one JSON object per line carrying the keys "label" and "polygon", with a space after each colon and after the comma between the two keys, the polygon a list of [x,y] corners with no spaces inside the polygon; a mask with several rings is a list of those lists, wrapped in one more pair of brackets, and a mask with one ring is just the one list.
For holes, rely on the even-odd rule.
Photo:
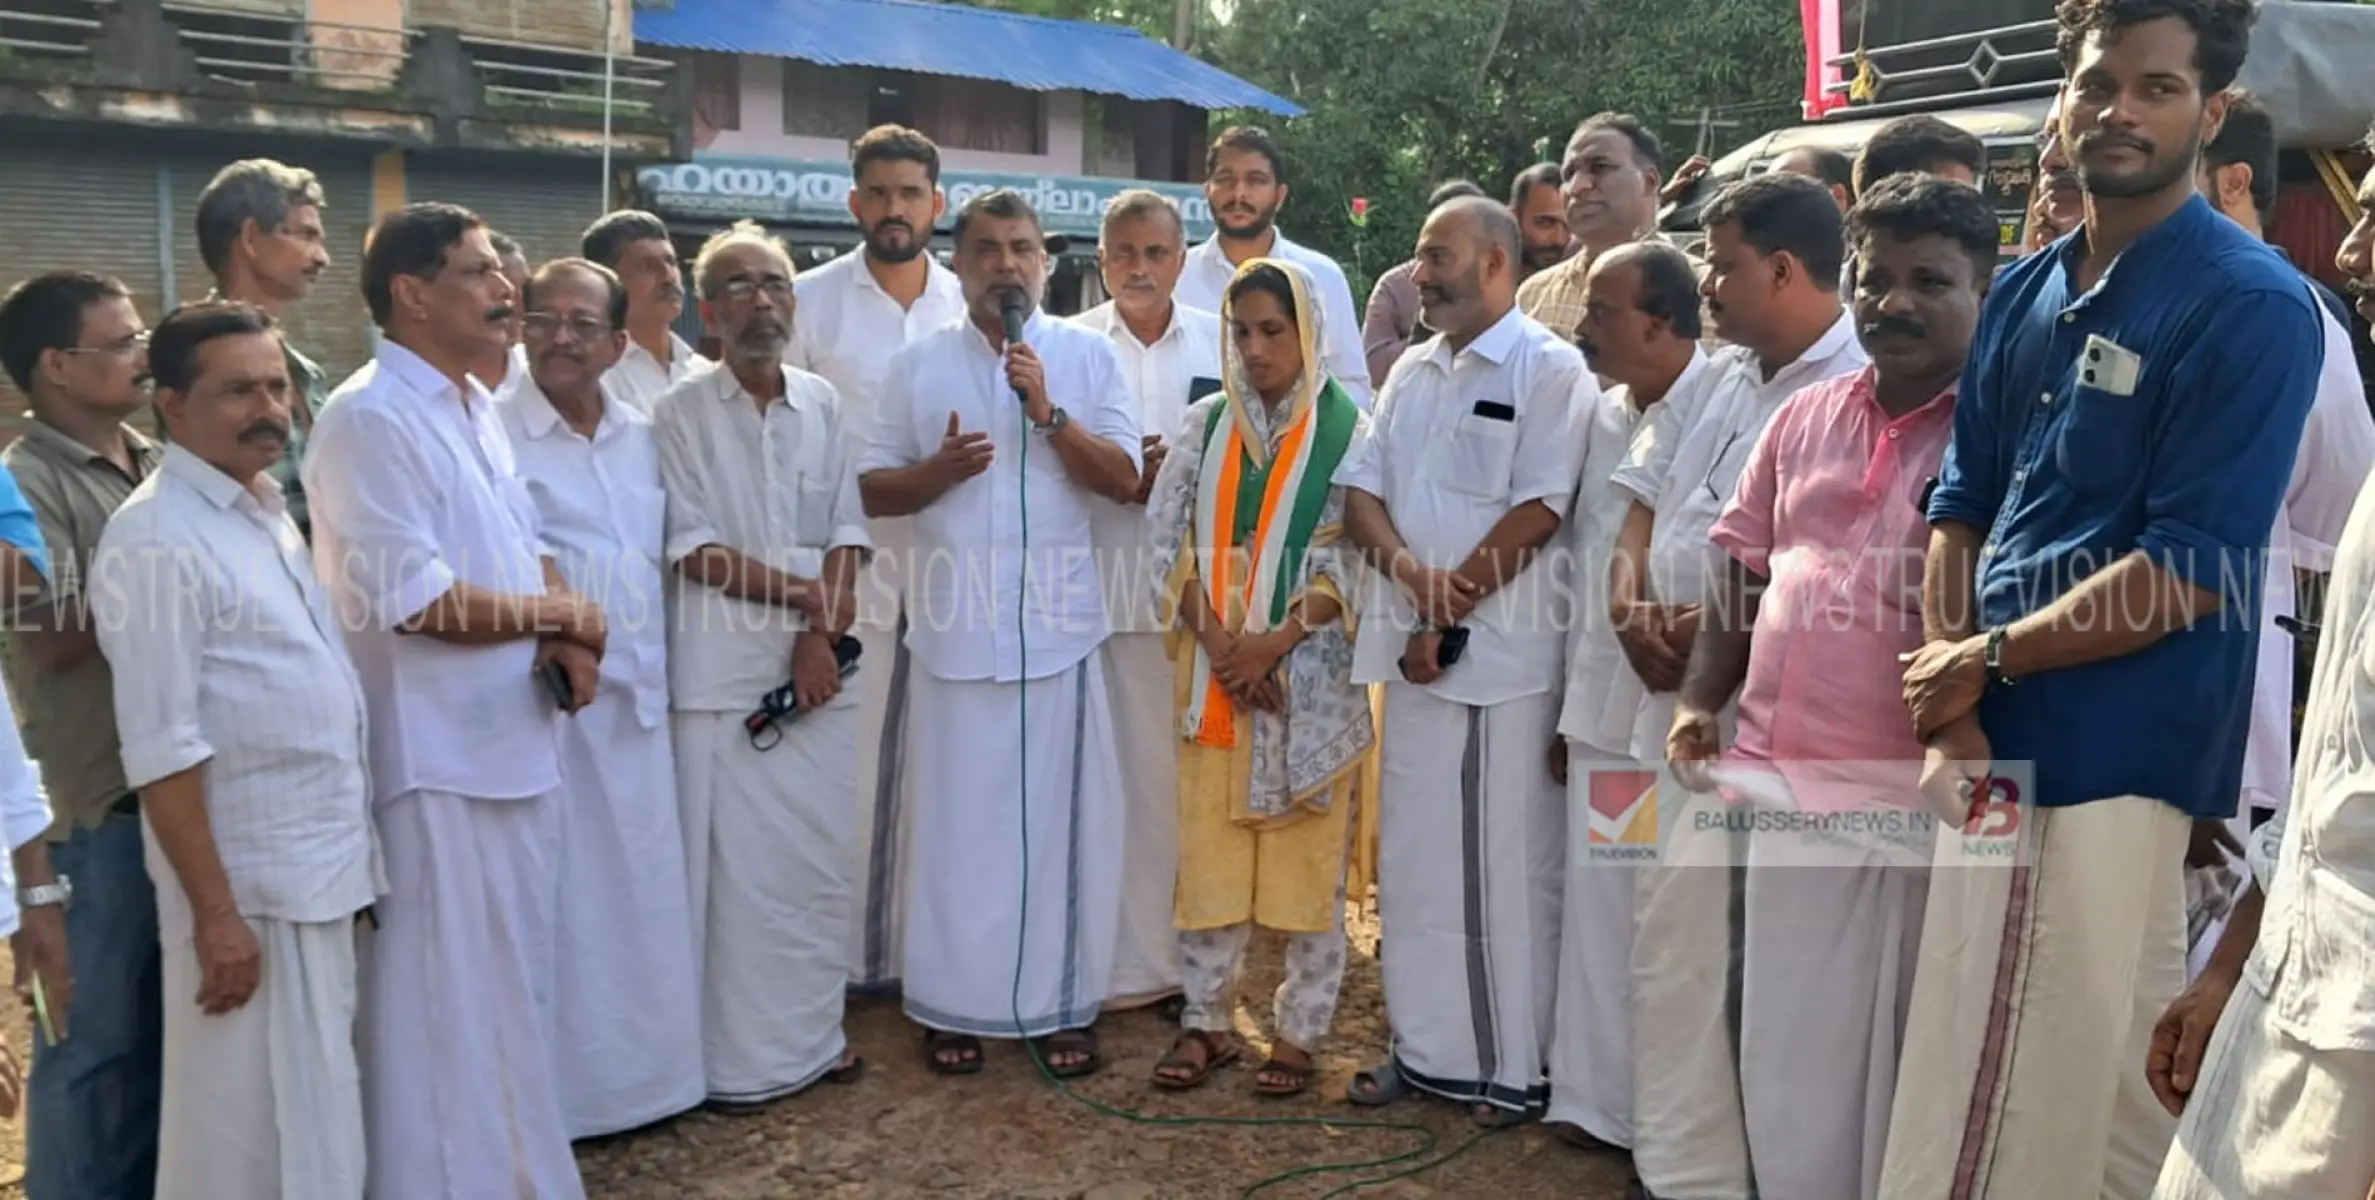
{"label": "moustached man in pink shirt and white mundu", "polygon": [[1898,656],[1921,646],[1921,506],[1995,238],[1964,183],[1872,188],[1848,216],[1872,366],[1781,402],[1710,532],[1731,563],[1667,758],[1686,787],[1793,813],[1765,815],[1748,844],[1741,1103],[1765,1200],[1879,1195],[1931,844]]}

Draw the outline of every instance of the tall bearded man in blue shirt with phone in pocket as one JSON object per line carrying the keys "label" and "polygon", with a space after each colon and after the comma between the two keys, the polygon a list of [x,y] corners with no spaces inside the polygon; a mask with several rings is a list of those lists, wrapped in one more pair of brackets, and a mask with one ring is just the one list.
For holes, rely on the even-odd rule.
{"label": "tall bearded man in blue shirt with phone in pocket", "polygon": [[[2252,14],[2059,12],[2085,226],[1988,297],[1928,504],[1905,701],[1933,803],[1988,803],[1940,846],[1881,1195],[2142,1200],[2168,1148],[2145,1050],[2185,981],[2190,836],[2242,787],[2325,354],[2301,276],[2194,195]],[[1990,760],[2033,794],[1966,787]]]}

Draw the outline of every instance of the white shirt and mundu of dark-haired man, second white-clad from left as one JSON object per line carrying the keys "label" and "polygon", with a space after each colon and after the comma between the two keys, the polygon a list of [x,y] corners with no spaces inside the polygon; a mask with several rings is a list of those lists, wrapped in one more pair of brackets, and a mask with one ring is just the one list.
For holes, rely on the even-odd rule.
{"label": "white shirt and mundu of dark-haired man, second white-clad from left", "polygon": [[304,461],[387,860],[359,1022],[370,1195],[584,1195],[549,1050],[560,710],[532,639],[397,632],[456,582],[544,594],[537,504],[492,404],[382,337]]}

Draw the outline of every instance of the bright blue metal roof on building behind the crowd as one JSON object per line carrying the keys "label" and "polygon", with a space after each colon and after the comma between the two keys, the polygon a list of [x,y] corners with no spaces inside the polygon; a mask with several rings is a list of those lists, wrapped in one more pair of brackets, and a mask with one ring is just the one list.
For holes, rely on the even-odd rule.
{"label": "bright blue metal roof on building behind the crowd", "polygon": [[636,12],[634,38],[677,50],[995,78],[1033,93],[1083,90],[1280,116],[1304,112],[1135,29],[964,5],[677,0],[672,12]]}

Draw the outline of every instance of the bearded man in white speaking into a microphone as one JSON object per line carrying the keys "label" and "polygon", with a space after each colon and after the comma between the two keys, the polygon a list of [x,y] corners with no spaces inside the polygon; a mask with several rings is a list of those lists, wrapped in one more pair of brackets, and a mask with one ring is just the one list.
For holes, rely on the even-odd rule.
{"label": "bearded man in white speaking into a microphone", "polygon": [[857,480],[867,516],[914,516],[917,537],[905,1003],[933,1072],[1033,1038],[1081,1076],[1123,848],[1090,518],[1138,492],[1138,413],[1112,342],[1038,311],[1021,195],[969,200],[955,233],[964,321],[891,359]]}

